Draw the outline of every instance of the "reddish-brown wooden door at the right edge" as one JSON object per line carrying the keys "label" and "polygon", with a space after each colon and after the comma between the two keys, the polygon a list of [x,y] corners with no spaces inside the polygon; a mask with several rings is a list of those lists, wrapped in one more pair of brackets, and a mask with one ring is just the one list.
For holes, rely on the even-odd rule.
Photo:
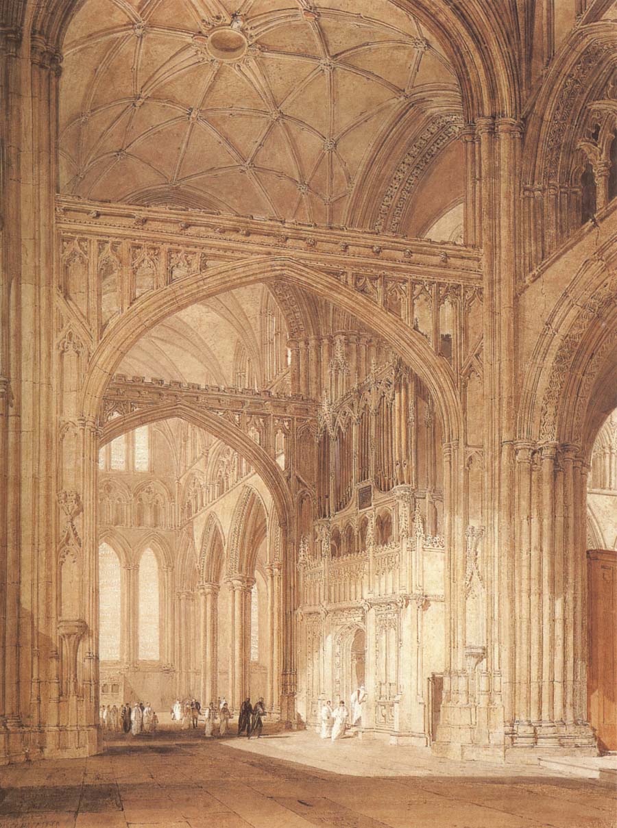
{"label": "reddish-brown wooden door at the right edge", "polygon": [[617,551],[587,552],[587,712],[600,750],[617,750]]}

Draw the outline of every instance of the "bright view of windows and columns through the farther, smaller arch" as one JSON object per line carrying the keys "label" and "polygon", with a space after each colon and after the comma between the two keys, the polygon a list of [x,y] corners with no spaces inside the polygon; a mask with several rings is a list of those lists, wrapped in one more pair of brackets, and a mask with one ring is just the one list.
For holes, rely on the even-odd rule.
{"label": "bright view of windows and columns through the farther, smaller arch", "polygon": [[276,498],[223,432],[180,416],[128,431],[121,421],[111,417],[98,463],[104,730],[125,703],[165,716],[175,700],[225,697],[233,713],[251,695],[278,711]]}

